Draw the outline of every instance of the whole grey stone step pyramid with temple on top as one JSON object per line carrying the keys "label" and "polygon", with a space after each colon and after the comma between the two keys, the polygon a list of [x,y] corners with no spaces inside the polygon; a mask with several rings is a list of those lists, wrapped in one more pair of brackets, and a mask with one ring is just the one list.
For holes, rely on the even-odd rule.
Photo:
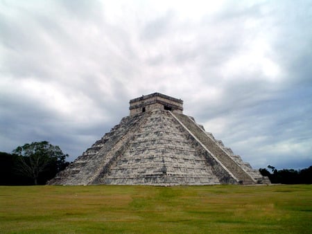
{"label": "whole grey stone step pyramid with temple on top", "polygon": [[48,184],[211,185],[270,183],[183,114],[183,101],[152,93]]}

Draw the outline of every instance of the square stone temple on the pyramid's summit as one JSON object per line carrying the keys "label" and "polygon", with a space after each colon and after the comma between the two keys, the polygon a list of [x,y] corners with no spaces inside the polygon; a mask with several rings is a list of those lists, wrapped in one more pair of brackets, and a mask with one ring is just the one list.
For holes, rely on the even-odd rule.
{"label": "square stone temple on the pyramid's summit", "polygon": [[174,113],[182,114],[183,100],[166,96],[162,93],[151,93],[130,100],[130,116],[152,111],[153,109],[164,109]]}

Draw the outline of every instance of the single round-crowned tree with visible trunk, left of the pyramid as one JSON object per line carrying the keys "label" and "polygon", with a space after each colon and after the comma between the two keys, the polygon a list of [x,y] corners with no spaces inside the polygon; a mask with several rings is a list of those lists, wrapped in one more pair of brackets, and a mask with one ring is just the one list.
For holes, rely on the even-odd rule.
{"label": "single round-crowned tree with visible trunk, left of the pyramid", "polygon": [[[49,171],[49,177],[53,177],[67,165],[65,159],[68,154],[63,154],[60,147],[51,145],[48,141],[26,143],[13,150],[13,154],[17,156],[17,170],[33,179],[35,185],[44,172]],[[43,183],[51,178],[45,178]]]}

